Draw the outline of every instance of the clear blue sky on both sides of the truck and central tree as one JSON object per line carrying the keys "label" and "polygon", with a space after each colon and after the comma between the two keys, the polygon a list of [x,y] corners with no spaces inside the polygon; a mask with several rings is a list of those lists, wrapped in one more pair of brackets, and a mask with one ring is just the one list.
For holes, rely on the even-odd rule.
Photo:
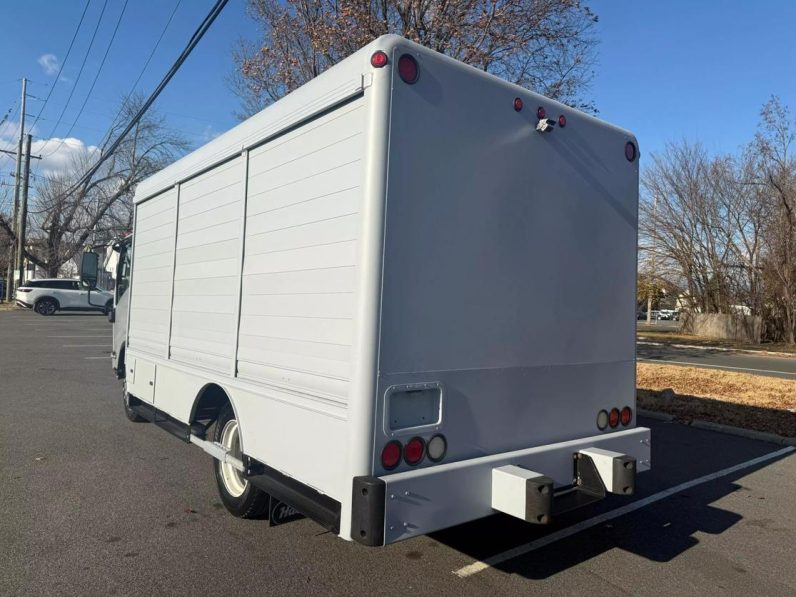
{"label": "clear blue sky on both sides of the truck and central tree", "polygon": [[[4,5],[0,37],[0,118],[19,97],[18,79],[31,79],[29,93],[43,98],[55,85],[34,130],[38,143],[66,135],[93,80],[124,0],[107,0],[95,45],[63,122],[53,131],[78,74],[105,0],[91,0],[72,55],[56,82],[48,66],[60,64],[85,0],[28,0]],[[182,0],[161,45],[138,85],[148,93],[160,80],[213,4]],[[645,154],[667,140],[698,139],[713,152],[734,151],[754,134],[760,106],[771,94],[796,109],[796,3],[739,0],[639,2],[593,0],[600,22],[598,64],[591,97],[599,116],[635,132]],[[117,37],[86,107],[69,133],[81,143],[98,142],[121,94],[129,91],[177,0],[130,0]],[[231,52],[240,37],[255,38],[244,0],[224,12],[158,100],[169,124],[200,145],[234,126],[237,99],[229,90]],[[51,54],[54,58],[42,58]],[[48,64],[49,61],[49,64]],[[41,102],[30,100],[36,115]],[[14,120],[14,114],[11,115]],[[30,121],[29,121],[30,123]],[[13,143],[13,123],[0,127],[0,143]],[[75,141],[74,143],[78,143]],[[51,142],[45,153],[59,147]],[[50,159],[66,159],[70,144]],[[36,146],[34,146],[36,151]],[[643,163],[643,162],[642,162]],[[0,172],[12,170],[0,159]],[[0,181],[10,181],[8,176]]]}

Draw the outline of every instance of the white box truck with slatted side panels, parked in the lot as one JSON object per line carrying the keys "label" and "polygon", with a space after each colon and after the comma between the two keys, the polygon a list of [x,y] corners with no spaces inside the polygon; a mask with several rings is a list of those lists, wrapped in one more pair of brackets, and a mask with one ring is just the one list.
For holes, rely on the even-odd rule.
{"label": "white box truck with slatted side panels, parked in the lot", "polygon": [[375,40],[139,185],[128,417],[209,452],[232,513],[366,545],[632,493],[637,154]]}

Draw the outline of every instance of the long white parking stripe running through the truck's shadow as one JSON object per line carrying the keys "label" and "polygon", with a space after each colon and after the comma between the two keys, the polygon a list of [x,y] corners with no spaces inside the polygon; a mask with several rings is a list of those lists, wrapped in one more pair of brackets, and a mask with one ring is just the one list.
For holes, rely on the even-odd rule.
{"label": "long white parking stripe running through the truck's shadow", "polygon": [[731,466],[729,468],[722,469],[715,473],[705,475],[704,477],[699,477],[698,479],[686,481],[685,483],[681,483],[680,485],[675,485],[674,487],[665,489],[664,491],[660,491],[656,494],[640,499],[637,502],[633,502],[631,504],[628,504],[627,506],[623,506],[622,508],[611,510],[610,512],[606,512],[605,514],[600,514],[599,516],[595,516],[594,518],[583,520],[577,524],[572,525],[571,527],[561,529],[560,531],[556,531],[555,533],[550,533],[546,537],[542,537],[541,539],[537,539],[536,541],[531,541],[530,543],[526,543],[524,545],[520,545],[518,547],[514,547],[512,549],[496,554],[483,561],[475,562],[473,564],[470,564],[469,566],[459,568],[458,570],[454,570],[453,574],[455,574],[459,578],[467,578],[468,576],[472,576],[473,574],[482,572],[487,568],[497,566],[499,564],[502,564],[503,562],[512,560],[520,556],[524,556],[525,554],[535,551],[541,547],[545,547],[547,545],[550,545],[551,543],[555,543],[556,541],[561,541],[562,539],[566,539],[568,537],[571,537],[572,535],[576,535],[581,531],[585,531],[586,529],[590,529],[594,526],[597,526],[609,520],[613,520],[614,518],[619,518],[620,516],[624,516],[625,514],[629,514],[630,512],[640,510],[645,506],[666,499],[667,497],[672,496],[675,493],[685,491],[686,489],[691,489],[692,487],[696,487],[697,485],[702,485],[703,483],[715,481],[720,477],[731,475],[732,473],[735,473],[737,471],[742,471],[743,469],[746,468],[751,468],[757,464],[761,464],[769,460],[774,460],[775,458],[779,458],[780,456],[784,456],[785,454],[790,454],[794,450],[796,450],[796,448],[788,446],[787,448],[782,448],[781,450],[777,450],[776,452],[770,452],[769,454],[765,454],[758,458],[747,460],[746,462],[742,462],[741,464],[736,464],[735,466]]}

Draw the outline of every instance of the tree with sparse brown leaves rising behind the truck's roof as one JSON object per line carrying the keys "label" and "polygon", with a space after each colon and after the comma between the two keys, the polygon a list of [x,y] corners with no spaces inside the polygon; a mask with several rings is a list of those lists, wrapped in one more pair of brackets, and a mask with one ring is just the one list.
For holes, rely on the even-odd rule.
{"label": "tree with sparse brown leaves rising behind the truck's roof", "polygon": [[235,53],[248,116],[386,33],[594,110],[594,13],[580,0],[248,0],[262,28]]}

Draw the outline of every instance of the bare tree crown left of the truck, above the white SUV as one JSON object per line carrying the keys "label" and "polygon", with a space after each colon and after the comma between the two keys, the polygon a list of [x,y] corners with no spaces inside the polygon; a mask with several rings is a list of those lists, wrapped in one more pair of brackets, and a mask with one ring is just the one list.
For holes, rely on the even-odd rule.
{"label": "bare tree crown left of the truck, above the white SUV", "polygon": [[[140,105],[140,97],[123,100],[119,117],[97,152],[76,156],[65,171],[36,185],[25,255],[47,275],[57,276],[61,266],[87,243],[104,243],[130,230],[135,186],[187,149],[187,142],[150,111],[100,170],[75,187]],[[0,228],[14,238],[4,219]]]}

